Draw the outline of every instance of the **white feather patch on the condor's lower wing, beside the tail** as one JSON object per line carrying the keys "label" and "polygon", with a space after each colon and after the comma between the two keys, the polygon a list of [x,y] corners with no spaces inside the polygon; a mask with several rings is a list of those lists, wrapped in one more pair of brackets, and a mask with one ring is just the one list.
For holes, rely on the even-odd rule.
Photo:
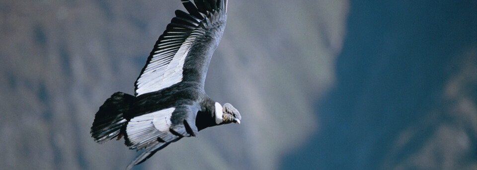
{"label": "white feather patch on the condor's lower wing, beside the tail", "polygon": [[173,140],[175,136],[169,128],[174,110],[171,107],[132,118],[126,126],[126,134],[132,144],[130,149],[142,149],[158,143],[158,137],[166,142]]}

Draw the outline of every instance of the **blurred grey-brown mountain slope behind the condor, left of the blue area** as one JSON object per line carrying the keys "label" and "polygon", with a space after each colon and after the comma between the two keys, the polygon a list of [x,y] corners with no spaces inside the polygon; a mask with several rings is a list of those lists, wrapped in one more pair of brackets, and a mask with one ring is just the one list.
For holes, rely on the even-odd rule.
{"label": "blurred grey-brown mountain slope behind the condor, left of the blue area", "polygon": [[[182,9],[168,1],[0,2],[0,167],[123,169],[122,141],[89,128],[113,92],[133,83],[154,42]],[[333,84],[347,2],[230,0],[206,91],[242,124],[201,131],[138,169],[276,169],[317,128],[313,102]]]}

